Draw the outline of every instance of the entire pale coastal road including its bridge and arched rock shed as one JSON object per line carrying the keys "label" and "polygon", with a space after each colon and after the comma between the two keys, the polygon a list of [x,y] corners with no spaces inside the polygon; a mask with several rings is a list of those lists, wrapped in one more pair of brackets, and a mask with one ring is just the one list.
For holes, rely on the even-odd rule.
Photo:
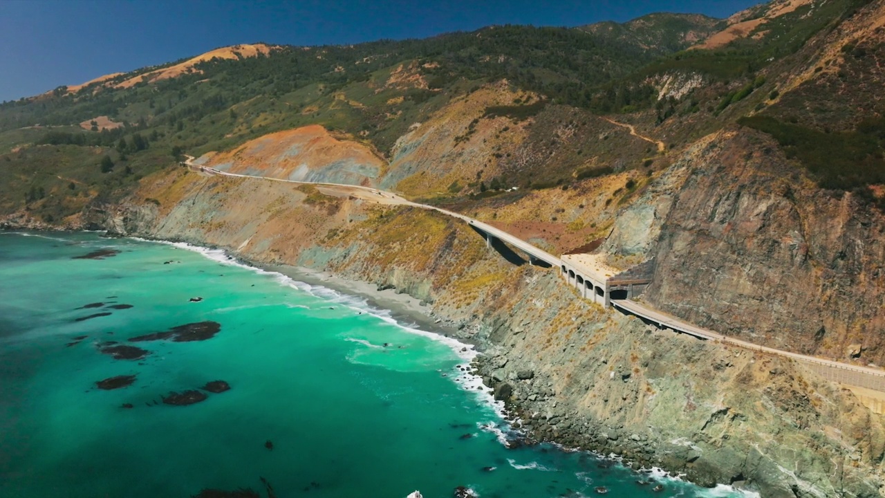
{"label": "entire pale coastal road including its bridge and arched rock shed", "polygon": [[[619,272],[618,270],[605,265],[602,258],[594,254],[565,254],[561,258],[557,258],[534,245],[528,244],[526,241],[521,240],[518,237],[512,236],[504,230],[496,229],[488,223],[483,223],[474,220],[469,216],[465,216],[464,214],[454,213],[440,207],[418,204],[397,196],[392,192],[343,183],[296,182],[266,176],[237,175],[235,173],[220,171],[213,167],[194,165],[194,158],[190,156],[188,157],[189,160],[184,161],[182,166],[189,167],[191,170],[204,173],[205,175],[257,178],[273,182],[328,187],[338,189],[342,192],[349,192],[350,194],[357,194],[359,198],[365,198],[366,200],[394,206],[419,207],[421,209],[436,211],[438,213],[458,218],[459,220],[467,222],[473,230],[480,233],[482,237],[486,239],[486,244],[489,245],[489,247],[496,245],[496,243],[504,242],[515,247],[521,253],[527,254],[528,261],[532,264],[558,268],[560,275],[566,279],[568,284],[573,285],[577,289],[583,299],[591,300],[603,307],[614,307],[627,315],[635,315],[643,319],[643,321],[652,323],[661,329],[670,329],[679,333],[688,334],[694,338],[739,346],[759,353],[775,354],[781,357],[786,357],[803,363],[809,368],[809,370],[817,372],[821,377],[824,377],[827,380],[850,386],[859,386],[878,393],[885,393],[885,370],[823,360],[805,354],[792,353],[781,349],[775,349],[773,347],[759,346],[736,338],[729,338],[718,332],[708,331],[690,323],[682,322],[676,317],[636,302],[634,300],[635,296],[642,292],[651,282],[650,276],[653,273],[653,266],[650,268],[643,268],[638,272],[632,270]],[[865,400],[866,398],[862,399],[866,404]],[[885,398],[875,402],[885,406]],[[881,408],[882,407],[879,407],[879,409]],[[871,406],[871,409],[875,408]]]}

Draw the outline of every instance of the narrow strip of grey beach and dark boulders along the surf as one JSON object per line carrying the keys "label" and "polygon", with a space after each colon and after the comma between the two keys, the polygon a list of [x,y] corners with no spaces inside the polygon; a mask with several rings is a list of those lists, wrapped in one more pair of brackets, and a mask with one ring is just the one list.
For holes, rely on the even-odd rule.
{"label": "narrow strip of grey beach and dark boulders along the surf", "polygon": [[[495,353],[501,347],[490,341],[487,335],[479,333],[487,326],[481,321],[471,323],[437,314],[426,302],[419,301],[392,285],[349,280],[331,272],[320,273],[310,268],[266,264],[247,259],[227,247],[198,245],[186,240],[158,242],[183,242],[223,250],[237,263],[281,273],[304,284],[321,285],[335,292],[357,296],[365,299],[371,307],[389,310],[399,323],[413,323],[421,330],[473,345],[479,355],[471,363],[471,373],[481,377],[483,385],[493,391],[496,401],[504,401],[504,419],[512,428],[506,434],[508,447],[544,442],[558,445],[563,451],[588,451],[611,462],[603,464],[621,463],[639,472],[637,482],[647,482],[644,479],[654,470],[671,479],[687,479],[705,487],[725,485],[741,489],[746,484],[743,480],[720,482],[709,476],[705,479],[690,479],[685,472],[676,471],[677,467],[661,467],[660,458],[655,458],[658,453],[657,440],[645,434],[628,432],[623,425],[612,427],[600,424],[592,418],[578,416],[574,410],[567,413],[566,410],[557,410],[558,398],[550,387],[552,383],[543,377],[535,377],[535,371],[528,367],[528,363],[521,363],[519,359],[510,360],[506,354]],[[510,362],[512,368],[508,369]],[[510,375],[502,375],[504,371]],[[545,413],[552,415],[543,415]],[[696,459],[697,456],[689,452],[676,460],[693,463]],[[748,488],[747,491],[752,489]]]}

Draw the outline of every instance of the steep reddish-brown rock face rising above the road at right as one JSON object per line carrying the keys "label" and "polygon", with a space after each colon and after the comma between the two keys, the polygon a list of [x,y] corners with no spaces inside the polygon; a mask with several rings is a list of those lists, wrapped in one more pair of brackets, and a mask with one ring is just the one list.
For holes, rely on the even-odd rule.
{"label": "steep reddish-brown rock face rising above the road at right", "polygon": [[[766,136],[697,144],[620,216],[614,252],[655,257],[654,306],[758,344],[881,364],[885,217],[828,194]],[[641,220],[642,222],[634,222]]]}

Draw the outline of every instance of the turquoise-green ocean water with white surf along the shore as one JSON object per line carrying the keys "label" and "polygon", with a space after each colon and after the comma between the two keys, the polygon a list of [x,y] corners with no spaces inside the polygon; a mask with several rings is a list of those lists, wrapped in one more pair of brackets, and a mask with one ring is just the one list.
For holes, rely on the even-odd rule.
{"label": "turquoise-green ocean water with white surf along the shore", "polygon": [[[119,253],[75,259],[99,250]],[[220,331],[127,341],[204,321]],[[109,341],[150,353],[114,359],[100,351]],[[504,447],[462,347],[217,251],[0,233],[0,497],[739,495],[588,453]],[[135,381],[96,387],[116,376]],[[230,390],[162,402],[214,380]]]}

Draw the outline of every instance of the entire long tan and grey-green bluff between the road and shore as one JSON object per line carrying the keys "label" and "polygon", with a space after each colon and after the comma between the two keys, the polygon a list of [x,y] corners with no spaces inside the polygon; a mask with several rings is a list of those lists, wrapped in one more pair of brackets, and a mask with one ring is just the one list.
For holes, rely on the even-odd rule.
{"label": "entire long tan and grey-green bluff between the road and shore", "polygon": [[885,420],[850,392],[581,301],[554,270],[513,266],[443,215],[179,169],[93,221],[408,292],[482,345],[482,375],[537,439],[763,496],[880,495]]}

